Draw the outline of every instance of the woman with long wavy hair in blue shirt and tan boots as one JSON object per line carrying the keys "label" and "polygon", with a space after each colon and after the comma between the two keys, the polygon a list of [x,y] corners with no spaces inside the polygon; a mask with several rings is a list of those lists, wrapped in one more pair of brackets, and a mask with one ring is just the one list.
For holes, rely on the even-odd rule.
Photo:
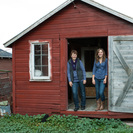
{"label": "woman with long wavy hair in blue shirt and tan boots", "polygon": [[102,48],[97,49],[93,66],[92,83],[96,89],[97,110],[104,109],[104,90],[107,83],[107,58],[105,51]]}

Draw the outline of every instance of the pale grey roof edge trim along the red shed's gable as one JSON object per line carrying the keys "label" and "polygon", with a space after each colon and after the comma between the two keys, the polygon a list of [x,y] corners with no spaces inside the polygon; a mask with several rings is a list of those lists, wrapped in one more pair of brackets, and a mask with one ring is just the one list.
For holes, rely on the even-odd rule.
{"label": "pale grey roof edge trim along the red shed's gable", "polygon": [[[41,19],[39,19],[38,21],[36,21],[35,23],[33,23],[31,26],[29,26],[27,29],[25,29],[24,31],[20,32],[18,35],[16,35],[15,37],[13,37],[12,39],[10,39],[9,41],[7,41],[6,43],[4,43],[5,47],[10,46],[13,42],[15,42],[16,40],[18,40],[19,38],[21,38],[22,36],[24,36],[26,33],[28,33],[29,31],[31,31],[32,29],[34,29],[35,27],[37,27],[39,24],[41,24],[42,22],[44,22],[45,20],[47,20],[48,18],[50,18],[51,16],[53,16],[55,13],[59,12],[60,10],[62,10],[63,8],[65,8],[67,5],[69,5],[70,3],[74,2],[76,0],[67,0],[66,2],[64,2],[63,4],[61,4],[59,7],[55,8],[53,11],[51,11],[50,13],[48,13],[47,15],[45,15],[44,17],[42,17]],[[110,13],[116,17],[119,17],[121,19],[124,19],[130,23],[133,23],[133,18],[126,16],[124,14],[121,14],[115,10],[112,10],[104,5],[101,5],[97,2],[94,2],[92,0],[79,0],[82,1],[86,4],[89,4],[91,6],[94,6],[100,10],[103,10],[107,13]]]}

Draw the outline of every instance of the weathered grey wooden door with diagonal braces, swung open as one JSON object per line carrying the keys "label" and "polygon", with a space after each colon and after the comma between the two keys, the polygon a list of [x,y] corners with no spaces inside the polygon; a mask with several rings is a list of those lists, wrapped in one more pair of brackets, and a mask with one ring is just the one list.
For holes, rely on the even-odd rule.
{"label": "weathered grey wooden door with diagonal braces, swung open", "polygon": [[133,113],[133,36],[110,36],[109,110]]}

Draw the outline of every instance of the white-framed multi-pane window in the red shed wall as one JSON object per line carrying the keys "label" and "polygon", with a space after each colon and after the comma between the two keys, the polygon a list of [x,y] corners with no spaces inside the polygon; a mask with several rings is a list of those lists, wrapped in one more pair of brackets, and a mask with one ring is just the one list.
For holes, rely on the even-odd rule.
{"label": "white-framed multi-pane window in the red shed wall", "polygon": [[51,80],[50,41],[30,41],[30,80]]}

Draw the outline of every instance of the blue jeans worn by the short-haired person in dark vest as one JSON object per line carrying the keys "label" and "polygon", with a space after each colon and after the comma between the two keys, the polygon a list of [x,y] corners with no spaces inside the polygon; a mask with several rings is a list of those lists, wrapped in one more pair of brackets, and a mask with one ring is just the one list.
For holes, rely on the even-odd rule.
{"label": "blue jeans worn by the short-haired person in dark vest", "polygon": [[80,87],[80,93],[81,93],[81,106],[85,106],[86,104],[85,85],[83,84],[83,81],[74,82],[72,86],[72,93],[73,93],[75,108],[79,108],[78,87]]}

